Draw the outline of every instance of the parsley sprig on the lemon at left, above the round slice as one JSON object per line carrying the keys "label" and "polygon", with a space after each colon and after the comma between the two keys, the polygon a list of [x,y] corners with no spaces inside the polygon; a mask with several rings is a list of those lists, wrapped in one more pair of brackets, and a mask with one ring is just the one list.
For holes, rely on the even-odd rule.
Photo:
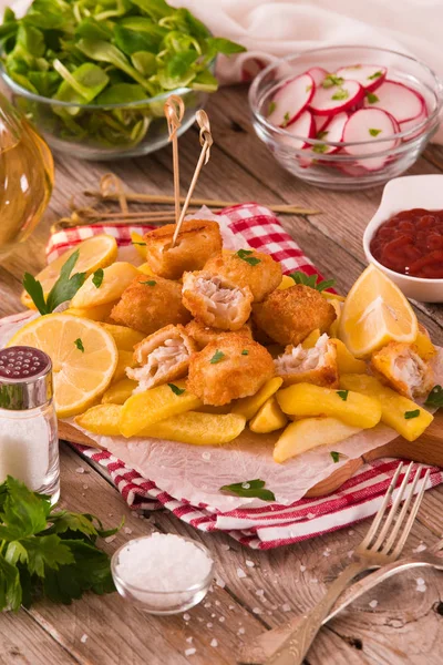
{"label": "parsley sprig on the lemon at left, above the round slice", "polygon": [[59,305],[66,300],[72,300],[76,291],[83,286],[86,279],[86,273],[71,273],[79,259],[79,249],[76,249],[69,259],[63,264],[60,270],[60,277],[54,286],[49,291],[48,298],[44,299],[43,287],[30,273],[24,273],[23,288],[30,295],[33,304],[40,314],[51,314]]}

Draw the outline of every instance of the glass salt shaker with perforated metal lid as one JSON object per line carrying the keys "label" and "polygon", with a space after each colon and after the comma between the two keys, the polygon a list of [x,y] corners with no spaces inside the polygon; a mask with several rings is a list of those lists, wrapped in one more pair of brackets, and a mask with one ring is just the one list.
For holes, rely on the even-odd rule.
{"label": "glass salt shaker with perforated metal lid", "polygon": [[60,497],[52,362],[32,347],[0,350],[0,482],[12,475],[29,489]]}

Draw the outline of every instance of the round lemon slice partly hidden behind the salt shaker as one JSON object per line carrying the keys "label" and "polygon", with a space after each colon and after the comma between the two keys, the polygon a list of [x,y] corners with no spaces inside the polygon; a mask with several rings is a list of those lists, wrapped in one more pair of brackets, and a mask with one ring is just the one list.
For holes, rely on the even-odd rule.
{"label": "round lemon slice partly hidden behind the salt shaker", "polygon": [[113,337],[90,319],[49,314],[23,326],[8,346],[31,346],[52,360],[59,418],[82,413],[106,390],[119,352]]}

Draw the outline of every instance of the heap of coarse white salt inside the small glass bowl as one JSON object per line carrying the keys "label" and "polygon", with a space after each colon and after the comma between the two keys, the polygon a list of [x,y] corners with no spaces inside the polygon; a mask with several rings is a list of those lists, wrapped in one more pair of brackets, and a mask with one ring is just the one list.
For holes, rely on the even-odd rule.
{"label": "heap of coarse white salt inside the small glass bowl", "polygon": [[[150,601],[144,591],[183,592],[200,584],[212,566],[212,559],[193,542],[172,533],[154,532],[126,543],[119,553],[116,573],[124,583],[136,587],[134,595],[138,600]],[[167,602],[174,598],[169,596]],[[183,618],[188,621],[190,616],[184,614]]]}

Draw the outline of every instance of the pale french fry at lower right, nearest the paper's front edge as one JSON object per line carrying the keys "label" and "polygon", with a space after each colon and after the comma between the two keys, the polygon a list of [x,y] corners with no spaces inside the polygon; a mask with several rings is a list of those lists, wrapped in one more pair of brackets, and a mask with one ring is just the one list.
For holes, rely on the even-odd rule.
{"label": "pale french fry at lower right, nearest the paper's front edge", "polygon": [[361,429],[337,418],[303,418],[288,424],[274,448],[274,461],[281,463],[317,448],[333,446],[357,434]]}

